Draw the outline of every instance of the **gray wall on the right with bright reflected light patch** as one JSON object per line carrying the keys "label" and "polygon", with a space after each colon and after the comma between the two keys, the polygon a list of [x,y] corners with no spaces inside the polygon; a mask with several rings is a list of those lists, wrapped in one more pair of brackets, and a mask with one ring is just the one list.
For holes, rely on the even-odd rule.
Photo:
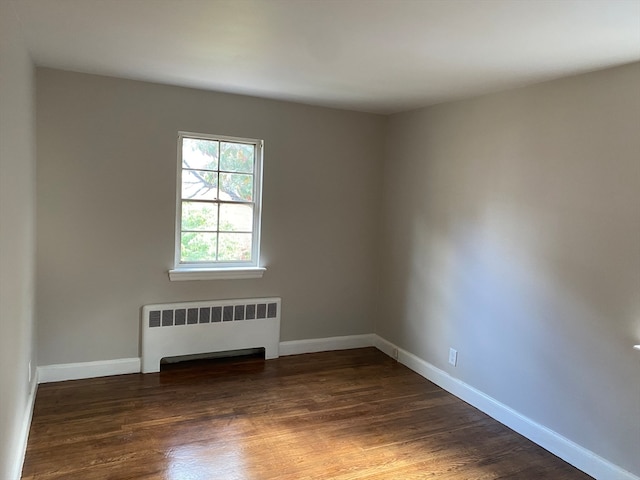
{"label": "gray wall on the right with bright reflected light patch", "polygon": [[386,160],[376,332],[640,474],[640,64],[394,115]]}

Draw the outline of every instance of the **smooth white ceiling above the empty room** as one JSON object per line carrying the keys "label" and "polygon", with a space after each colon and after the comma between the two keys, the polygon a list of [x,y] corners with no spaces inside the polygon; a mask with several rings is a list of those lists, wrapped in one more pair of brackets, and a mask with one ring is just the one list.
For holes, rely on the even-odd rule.
{"label": "smooth white ceiling above the empty room", "polygon": [[640,0],[10,1],[39,66],[379,113],[640,60]]}

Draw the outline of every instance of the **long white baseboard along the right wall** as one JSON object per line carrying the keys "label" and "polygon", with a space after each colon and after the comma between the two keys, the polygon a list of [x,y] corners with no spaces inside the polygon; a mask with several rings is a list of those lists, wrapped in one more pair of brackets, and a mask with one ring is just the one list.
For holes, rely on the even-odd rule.
{"label": "long white baseboard along the right wall", "polygon": [[394,350],[397,349],[398,361],[403,365],[586,474],[598,480],[640,480],[640,477],[635,476],[633,473],[581,447],[544,425],[534,422],[480,390],[473,388],[471,385],[452,377],[429,362],[398,348],[384,338],[374,335],[373,344],[390,357],[393,356]]}

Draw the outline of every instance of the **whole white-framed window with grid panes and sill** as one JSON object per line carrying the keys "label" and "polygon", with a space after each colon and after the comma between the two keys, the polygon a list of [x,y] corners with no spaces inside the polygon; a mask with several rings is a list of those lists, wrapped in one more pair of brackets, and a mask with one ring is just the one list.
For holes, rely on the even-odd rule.
{"label": "whole white-framed window with grid panes and sill", "polygon": [[262,140],[180,132],[171,280],[255,278]]}

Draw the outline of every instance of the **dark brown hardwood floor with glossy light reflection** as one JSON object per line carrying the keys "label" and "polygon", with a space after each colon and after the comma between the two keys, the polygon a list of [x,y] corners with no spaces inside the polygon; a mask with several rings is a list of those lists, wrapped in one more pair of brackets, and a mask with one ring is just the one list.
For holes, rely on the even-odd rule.
{"label": "dark brown hardwood floor with glossy light reflection", "polygon": [[40,385],[22,478],[591,477],[366,348]]}

